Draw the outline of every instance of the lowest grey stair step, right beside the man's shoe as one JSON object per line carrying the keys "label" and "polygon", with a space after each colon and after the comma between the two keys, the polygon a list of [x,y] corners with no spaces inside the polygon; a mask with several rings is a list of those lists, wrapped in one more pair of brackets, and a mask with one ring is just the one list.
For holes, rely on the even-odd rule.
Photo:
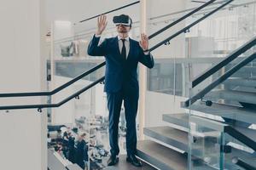
{"label": "lowest grey stair step, right beside the man's shoe", "polygon": [[[186,154],[167,148],[150,140],[141,140],[137,143],[137,156],[154,167],[166,170],[187,170],[188,160]],[[206,165],[199,165],[197,170],[213,169]]]}

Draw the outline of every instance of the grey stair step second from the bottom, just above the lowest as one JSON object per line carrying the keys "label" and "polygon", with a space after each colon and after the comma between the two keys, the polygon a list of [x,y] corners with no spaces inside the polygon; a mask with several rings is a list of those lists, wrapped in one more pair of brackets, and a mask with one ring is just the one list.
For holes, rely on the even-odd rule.
{"label": "grey stair step second from the bottom, just above the lowest", "polygon": [[172,145],[179,150],[185,152],[189,150],[188,133],[181,130],[172,127],[145,127],[143,132],[145,135]]}

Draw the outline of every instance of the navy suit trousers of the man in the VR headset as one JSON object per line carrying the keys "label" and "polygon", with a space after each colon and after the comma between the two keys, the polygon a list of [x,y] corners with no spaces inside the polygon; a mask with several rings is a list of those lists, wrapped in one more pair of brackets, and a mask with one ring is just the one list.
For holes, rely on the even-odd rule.
{"label": "navy suit trousers of the man in the VR headset", "polygon": [[136,154],[137,150],[137,130],[136,116],[138,105],[138,90],[122,88],[119,92],[108,93],[109,111],[109,143],[111,155],[119,155],[119,116],[122,102],[125,106],[126,121],[126,151],[127,156]]}

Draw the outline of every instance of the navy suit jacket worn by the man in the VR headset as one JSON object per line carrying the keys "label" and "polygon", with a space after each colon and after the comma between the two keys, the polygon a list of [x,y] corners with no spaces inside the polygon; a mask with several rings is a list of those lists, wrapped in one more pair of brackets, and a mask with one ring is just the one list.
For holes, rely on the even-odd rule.
{"label": "navy suit jacket worn by the man in the VR headset", "polygon": [[131,92],[138,91],[137,64],[141,62],[153,68],[154,59],[151,54],[144,54],[139,42],[130,38],[130,50],[127,59],[123,59],[119,51],[118,37],[106,38],[98,45],[100,37],[93,37],[88,46],[91,56],[105,56],[105,87],[107,93],[118,92],[121,88]]}

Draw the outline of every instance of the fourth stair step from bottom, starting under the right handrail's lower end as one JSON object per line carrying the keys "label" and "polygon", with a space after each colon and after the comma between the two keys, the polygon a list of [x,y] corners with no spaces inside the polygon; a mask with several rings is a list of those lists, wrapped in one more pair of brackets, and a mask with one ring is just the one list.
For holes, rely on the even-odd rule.
{"label": "fourth stair step from bottom, starting under the right handrail's lower end", "polygon": [[201,101],[195,102],[195,104],[190,106],[190,109],[192,111],[207,113],[212,116],[221,116],[235,121],[256,124],[256,113],[253,109],[246,109],[233,105],[222,105],[214,103],[212,104],[212,106],[207,106],[204,102]]}

